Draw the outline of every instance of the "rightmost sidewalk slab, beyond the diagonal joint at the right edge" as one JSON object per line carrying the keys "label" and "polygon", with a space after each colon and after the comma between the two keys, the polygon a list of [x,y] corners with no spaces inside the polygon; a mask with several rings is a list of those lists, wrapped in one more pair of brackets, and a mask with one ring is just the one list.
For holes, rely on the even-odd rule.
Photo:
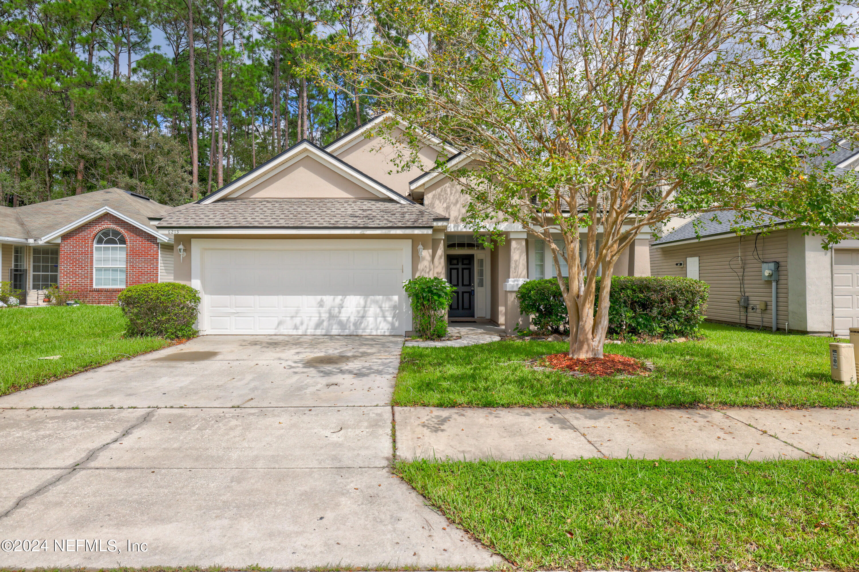
{"label": "rightmost sidewalk slab, beyond the diagonal joint at the right edge", "polygon": [[812,455],[859,458],[859,409],[728,409],[725,414]]}

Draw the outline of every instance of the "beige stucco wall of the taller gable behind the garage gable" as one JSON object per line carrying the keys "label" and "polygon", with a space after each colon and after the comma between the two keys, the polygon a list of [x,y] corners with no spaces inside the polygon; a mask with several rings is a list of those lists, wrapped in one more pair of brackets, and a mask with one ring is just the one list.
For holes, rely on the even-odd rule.
{"label": "beige stucco wall of the taller gable behind the garage gable", "polygon": [[[395,129],[391,136],[397,137],[402,131]],[[438,151],[423,147],[418,151],[418,163],[400,172],[401,165],[411,158],[412,150],[407,145],[395,146],[387,136],[362,139],[343,151],[335,151],[339,160],[354,166],[375,180],[386,184],[400,195],[409,194],[409,181],[419,177],[436,164]]]}

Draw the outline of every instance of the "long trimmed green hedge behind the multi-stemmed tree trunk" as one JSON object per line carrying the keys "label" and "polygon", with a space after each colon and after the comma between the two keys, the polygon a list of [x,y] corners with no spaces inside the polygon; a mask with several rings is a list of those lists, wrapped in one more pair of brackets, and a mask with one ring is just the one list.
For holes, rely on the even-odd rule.
{"label": "long trimmed green hedge behind the multi-stemmed tree trunk", "polygon": [[[597,298],[601,279],[597,278]],[[704,322],[710,285],[701,280],[664,276],[612,276],[609,295],[610,336],[650,335],[666,338],[695,334]],[[557,279],[528,280],[516,293],[523,314],[532,315],[541,331],[566,334],[567,306]]]}

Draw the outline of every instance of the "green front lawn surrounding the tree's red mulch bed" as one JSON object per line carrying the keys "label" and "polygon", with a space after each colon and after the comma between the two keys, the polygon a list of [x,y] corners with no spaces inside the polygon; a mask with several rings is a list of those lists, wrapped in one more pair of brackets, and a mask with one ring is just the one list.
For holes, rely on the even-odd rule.
{"label": "green front lawn surrounding the tree's red mulch bed", "polygon": [[593,379],[534,371],[527,359],[566,342],[499,341],[468,347],[405,347],[399,406],[856,406],[859,388],[832,382],[832,338],[704,324],[704,340],[619,344],[606,352],[652,361],[636,378]]}

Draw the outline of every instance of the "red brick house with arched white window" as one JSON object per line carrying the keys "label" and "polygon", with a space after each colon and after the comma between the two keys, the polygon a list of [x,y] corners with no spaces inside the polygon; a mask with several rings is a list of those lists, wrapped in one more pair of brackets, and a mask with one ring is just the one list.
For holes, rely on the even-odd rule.
{"label": "red brick house with arched white window", "polygon": [[0,207],[0,280],[44,304],[51,285],[90,304],[125,286],[173,280],[173,240],[149,224],[170,207],[127,190],[98,190],[26,207]]}

